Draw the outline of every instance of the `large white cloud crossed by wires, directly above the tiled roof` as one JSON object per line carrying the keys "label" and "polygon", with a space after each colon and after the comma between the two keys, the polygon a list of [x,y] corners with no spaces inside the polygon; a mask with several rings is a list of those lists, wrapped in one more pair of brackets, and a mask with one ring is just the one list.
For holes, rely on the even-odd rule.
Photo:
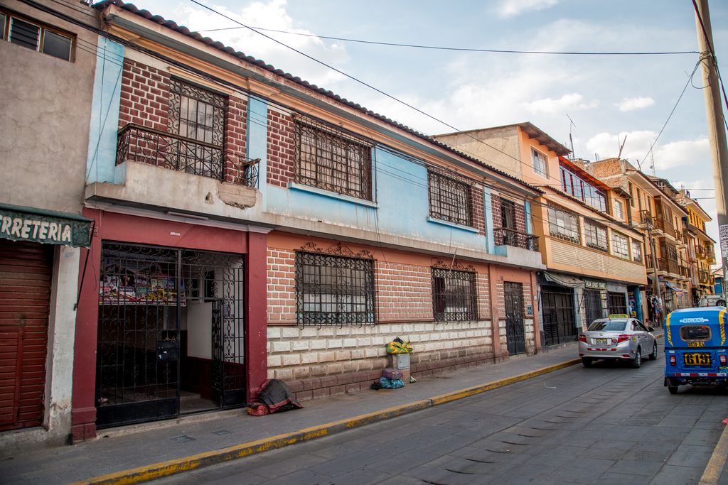
{"label": "large white cloud crossed by wires, directly above the tiled roof", "polygon": [[[306,29],[296,28],[293,18],[286,12],[286,0],[256,1],[240,10],[229,9],[221,5],[211,5],[210,8],[252,27],[311,33]],[[313,84],[328,87],[327,85],[333,84],[344,77],[324,65],[306,59],[298,52],[266,39],[248,28],[206,32],[209,29],[240,26],[240,24],[226,20],[226,18],[210,10],[196,6],[185,6],[178,11],[175,19],[180,25],[187,25],[191,30],[202,31],[203,36],[209,36],[211,39],[221,41],[223,44],[240,50],[246,55],[264,60],[282,71],[291,73],[293,76],[299,76],[301,79]],[[266,36],[281,41],[330,65],[341,67],[349,61],[347,50],[341,44],[323,41],[323,39],[316,36],[296,36],[268,31],[264,31],[264,33]]]}

